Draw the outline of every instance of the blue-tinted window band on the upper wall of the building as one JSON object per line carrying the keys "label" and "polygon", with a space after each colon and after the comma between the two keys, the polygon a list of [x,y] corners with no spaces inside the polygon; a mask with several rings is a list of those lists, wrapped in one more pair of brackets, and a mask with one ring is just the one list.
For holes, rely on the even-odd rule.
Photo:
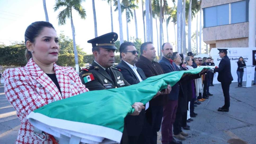
{"label": "blue-tinted window band on the upper wall of the building", "polygon": [[203,8],[204,28],[248,21],[249,0]]}

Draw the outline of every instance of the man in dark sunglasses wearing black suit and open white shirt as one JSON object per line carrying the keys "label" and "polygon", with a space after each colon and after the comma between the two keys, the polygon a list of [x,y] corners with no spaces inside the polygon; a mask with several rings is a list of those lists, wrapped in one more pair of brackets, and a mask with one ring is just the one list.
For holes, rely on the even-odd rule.
{"label": "man in dark sunglasses wearing black suit and open white shirt", "polygon": [[[142,69],[137,68],[135,63],[138,61],[138,54],[139,52],[136,50],[134,43],[132,42],[124,42],[120,45],[120,58],[122,59],[121,62],[116,66],[117,69],[121,69],[121,73],[123,77],[129,82],[130,84],[137,84],[142,82],[147,77],[145,76]],[[167,89],[170,89],[168,87]],[[163,93],[163,92],[162,92]],[[157,95],[160,95],[161,92],[158,91]],[[156,97],[155,96],[155,97]],[[145,110],[149,108],[149,102],[145,105]],[[128,133],[128,141],[132,144],[142,144],[145,141],[145,131],[146,129],[145,123],[145,110],[138,116],[126,116],[125,118],[125,125],[127,128]]]}

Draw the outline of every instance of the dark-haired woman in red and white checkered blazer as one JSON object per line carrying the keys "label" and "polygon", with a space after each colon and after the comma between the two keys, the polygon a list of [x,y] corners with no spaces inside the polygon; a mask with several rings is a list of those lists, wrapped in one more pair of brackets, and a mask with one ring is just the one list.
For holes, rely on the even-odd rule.
{"label": "dark-haired woman in red and white checkered blazer", "polygon": [[55,64],[59,44],[52,24],[37,21],[29,25],[25,32],[25,44],[27,65],[4,72],[6,97],[21,121],[16,143],[52,143],[49,135],[46,135],[45,141],[34,136],[34,127],[26,119],[27,115],[39,107],[87,92],[88,89],[73,68]]}

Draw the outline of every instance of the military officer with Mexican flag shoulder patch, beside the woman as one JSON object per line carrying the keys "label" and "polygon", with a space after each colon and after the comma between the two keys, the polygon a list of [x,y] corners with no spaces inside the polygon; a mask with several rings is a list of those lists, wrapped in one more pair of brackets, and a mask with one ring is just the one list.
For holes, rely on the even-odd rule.
{"label": "military officer with Mexican flag shoulder patch, beside the woman", "polygon": [[[120,70],[112,67],[114,52],[117,50],[114,43],[117,38],[117,33],[112,32],[87,41],[92,44],[94,61],[90,67],[82,69],[80,78],[90,91],[130,86]],[[132,107],[135,111],[131,115],[139,115],[145,108],[141,102],[135,102]],[[127,142],[126,128],[124,128],[121,143]]]}

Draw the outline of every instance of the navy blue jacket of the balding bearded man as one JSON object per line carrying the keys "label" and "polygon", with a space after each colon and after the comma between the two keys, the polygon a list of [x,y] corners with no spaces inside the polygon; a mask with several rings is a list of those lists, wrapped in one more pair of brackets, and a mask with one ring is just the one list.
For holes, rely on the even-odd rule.
{"label": "navy blue jacket of the balding bearded man", "polygon": [[[170,60],[165,57],[162,57],[162,59],[159,61],[159,64],[161,65],[165,73],[179,71],[178,66],[173,62],[173,67],[174,67],[173,69],[173,67],[171,66]],[[174,86],[171,87],[171,92],[170,94],[167,95],[169,100],[178,100],[179,87],[180,87],[179,83],[176,83]]]}

